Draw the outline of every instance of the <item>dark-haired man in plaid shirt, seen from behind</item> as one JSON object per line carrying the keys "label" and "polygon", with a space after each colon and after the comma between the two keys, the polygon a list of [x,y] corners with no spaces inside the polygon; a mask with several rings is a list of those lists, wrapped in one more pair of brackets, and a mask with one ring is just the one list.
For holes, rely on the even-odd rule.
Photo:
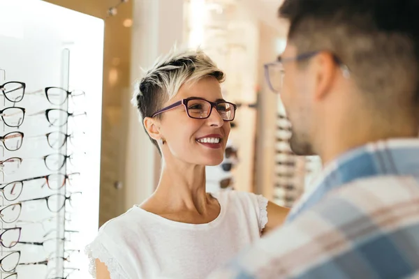
{"label": "dark-haired man in plaid shirt, seen from behind", "polygon": [[419,1],[285,0],[267,64],[298,155],[325,167],[286,225],[210,278],[419,276]]}

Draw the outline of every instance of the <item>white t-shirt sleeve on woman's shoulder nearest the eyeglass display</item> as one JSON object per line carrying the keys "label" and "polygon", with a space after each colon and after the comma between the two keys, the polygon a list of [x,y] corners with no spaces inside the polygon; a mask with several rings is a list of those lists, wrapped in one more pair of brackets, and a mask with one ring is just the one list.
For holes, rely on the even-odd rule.
{"label": "white t-shirt sleeve on woman's shoulder nearest the eyeglass display", "polygon": [[89,258],[89,272],[93,278],[96,278],[96,259],[99,259],[107,267],[110,273],[110,279],[127,279],[128,276],[122,269],[118,261],[120,248],[115,241],[108,235],[106,225],[99,229],[98,235],[86,248],[84,252]]}

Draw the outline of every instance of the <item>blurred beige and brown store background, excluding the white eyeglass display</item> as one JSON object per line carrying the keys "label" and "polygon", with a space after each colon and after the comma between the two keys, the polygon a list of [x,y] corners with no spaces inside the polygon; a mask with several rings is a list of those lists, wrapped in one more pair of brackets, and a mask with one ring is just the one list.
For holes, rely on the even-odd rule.
{"label": "blurred beige and brown store background, excluding the white eyeglass display", "polygon": [[208,190],[251,191],[284,206],[301,195],[320,162],[289,152],[281,100],[263,73],[263,64],[286,45],[286,22],[277,17],[280,0],[48,2],[105,21],[99,225],[142,202],[158,182],[159,154],[130,100],[141,68],[175,43],[203,48],[227,73],[224,97],[240,105],[232,156],[208,168]]}

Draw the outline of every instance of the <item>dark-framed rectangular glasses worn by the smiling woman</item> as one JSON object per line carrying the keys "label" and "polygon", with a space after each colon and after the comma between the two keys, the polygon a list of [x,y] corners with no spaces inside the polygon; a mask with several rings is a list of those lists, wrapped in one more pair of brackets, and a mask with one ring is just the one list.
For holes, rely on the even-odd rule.
{"label": "dark-framed rectangular glasses worn by the smiling woman", "polygon": [[203,98],[191,97],[179,100],[178,102],[173,103],[168,107],[164,107],[163,109],[155,112],[152,117],[162,114],[163,112],[167,112],[168,110],[172,110],[175,107],[179,107],[181,105],[184,105],[186,114],[188,114],[188,116],[192,119],[207,119],[210,117],[212,108],[214,107],[223,121],[233,121],[235,118],[235,111],[237,110],[237,105],[226,102],[224,100],[214,103]]}

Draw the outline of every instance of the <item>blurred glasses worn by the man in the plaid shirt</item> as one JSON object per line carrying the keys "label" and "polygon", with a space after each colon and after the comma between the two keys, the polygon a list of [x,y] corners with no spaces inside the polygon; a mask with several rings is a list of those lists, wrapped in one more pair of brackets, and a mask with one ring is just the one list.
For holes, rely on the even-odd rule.
{"label": "blurred glasses worn by the man in the plaid shirt", "polygon": [[[281,56],[278,57],[277,61],[272,63],[265,64],[265,80],[267,82],[267,85],[270,87],[270,89],[274,93],[281,93],[282,87],[284,84],[284,63],[290,62],[290,61],[302,61],[306,59],[310,59],[313,56],[316,56],[319,54],[320,51],[316,52],[307,52],[300,55],[297,55],[295,57],[287,57],[283,58]],[[333,59],[335,60],[335,63],[341,68],[342,72],[344,73],[344,77],[350,76],[350,71],[348,66],[346,66],[344,63],[341,62],[341,60],[335,55],[332,54]]]}

